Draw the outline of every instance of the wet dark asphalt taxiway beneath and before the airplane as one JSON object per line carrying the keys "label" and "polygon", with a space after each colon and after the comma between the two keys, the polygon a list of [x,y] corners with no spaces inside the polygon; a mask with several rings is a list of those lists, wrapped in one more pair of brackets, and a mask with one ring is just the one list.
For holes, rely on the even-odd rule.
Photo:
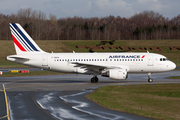
{"label": "wet dark asphalt taxiway beneath and before the airplane", "polygon": [[[180,71],[153,74],[153,84],[180,83],[168,80]],[[27,77],[0,77],[0,120],[7,120],[3,84],[7,93],[11,120],[149,120],[137,115],[103,108],[85,96],[107,85],[152,84],[147,74],[130,74],[127,80],[114,81],[99,76],[92,84],[88,75],[45,75]]]}

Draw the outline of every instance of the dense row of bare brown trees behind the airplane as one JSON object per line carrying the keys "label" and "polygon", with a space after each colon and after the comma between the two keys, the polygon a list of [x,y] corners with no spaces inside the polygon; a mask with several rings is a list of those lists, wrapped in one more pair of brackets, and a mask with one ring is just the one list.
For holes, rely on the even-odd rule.
{"label": "dense row of bare brown trees behind the airplane", "polygon": [[180,39],[180,15],[172,19],[154,11],[143,11],[130,18],[120,16],[59,18],[42,11],[20,9],[0,14],[0,39],[11,39],[9,23],[20,23],[35,40],[129,40]]}

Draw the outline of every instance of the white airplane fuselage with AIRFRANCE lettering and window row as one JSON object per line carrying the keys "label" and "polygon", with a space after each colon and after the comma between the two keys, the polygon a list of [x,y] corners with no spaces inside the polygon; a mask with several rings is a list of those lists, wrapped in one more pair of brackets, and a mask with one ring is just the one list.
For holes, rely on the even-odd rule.
{"label": "white airplane fuselage with AIRFRANCE lettering and window row", "polygon": [[[7,59],[46,70],[85,74],[93,74],[93,71],[86,69],[87,65],[107,66],[107,68],[119,66],[128,73],[156,73],[173,70],[176,67],[165,56],[155,53],[37,53],[23,56],[29,60],[18,60],[11,56]],[[74,63],[85,65],[83,67]]]}

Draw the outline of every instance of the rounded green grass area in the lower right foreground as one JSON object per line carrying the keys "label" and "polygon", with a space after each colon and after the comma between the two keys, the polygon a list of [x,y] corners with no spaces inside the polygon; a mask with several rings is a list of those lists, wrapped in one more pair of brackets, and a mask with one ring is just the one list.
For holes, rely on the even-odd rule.
{"label": "rounded green grass area in the lower right foreground", "polygon": [[177,120],[180,119],[179,88],[180,84],[107,86],[87,97],[113,110],[155,119]]}

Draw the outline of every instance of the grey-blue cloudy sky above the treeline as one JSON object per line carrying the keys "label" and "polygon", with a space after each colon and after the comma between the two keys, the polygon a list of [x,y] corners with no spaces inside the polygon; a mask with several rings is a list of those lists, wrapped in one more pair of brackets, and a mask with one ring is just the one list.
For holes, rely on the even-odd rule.
{"label": "grey-blue cloudy sky above the treeline", "polygon": [[153,10],[164,17],[180,14],[180,0],[0,0],[0,13],[17,13],[21,8],[40,10],[49,18],[106,17],[109,15],[131,17],[135,13]]}

